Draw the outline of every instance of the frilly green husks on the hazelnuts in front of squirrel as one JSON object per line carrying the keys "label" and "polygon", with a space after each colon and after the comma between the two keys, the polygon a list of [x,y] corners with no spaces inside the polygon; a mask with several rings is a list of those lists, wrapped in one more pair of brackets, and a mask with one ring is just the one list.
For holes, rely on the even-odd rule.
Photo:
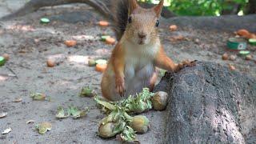
{"label": "frilly green husks on the hazelnuts in front of squirrel", "polygon": [[150,98],[154,96],[148,88],[142,90],[141,93],[135,97],[129,96],[126,99],[118,102],[105,102],[95,97],[95,101],[110,110],[110,113],[103,118],[101,126],[110,122],[114,122],[114,134],[120,134],[123,141],[134,142],[136,139],[135,131],[129,126],[133,118],[127,114],[130,112],[136,112],[136,110],[143,112],[152,108],[152,102]]}

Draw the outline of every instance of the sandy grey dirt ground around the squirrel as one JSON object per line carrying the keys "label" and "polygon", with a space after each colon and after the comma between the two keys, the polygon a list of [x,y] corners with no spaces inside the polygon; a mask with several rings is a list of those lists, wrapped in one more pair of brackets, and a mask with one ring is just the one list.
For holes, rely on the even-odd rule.
{"label": "sandy grey dirt ground around the squirrel", "polygon": [[[0,17],[10,14],[22,6],[26,0],[0,0]],[[98,122],[104,117],[92,98],[80,98],[82,86],[92,86],[101,95],[102,74],[87,66],[89,58],[109,58],[113,46],[98,40],[101,34],[113,35],[110,28],[95,25],[102,19],[92,13],[86,5],[74,4],[47,7],[33,14],[27,14],[8,22],[0,22],[0,54],[10,54],[10,61],[0,67],[0,131],[11,127],[10,134],[0,135],[0,143],[114,143],[115,139],[97,136]],[[39,19],[50,18],[42,25]],[[226,40],[232,33],[218,30],[204,31],[187,28],[170,32],[168,26],[161,27],[161,38],[167,54],[175,62],[183,59],[232,64],[237,70],[256,77],[254,61],[236,58],[222,61],[222,54],[236,54],[226,50]],[[185,39],[170,41],[182,35]],[[78,45],[66,47],[65,40],[76,39]],[[249,46],[256,58],[256,47]],[[47,58],[55,58],[59,65],[46,66]],[[14,77],[16,75],[17,77]],[[31,92],[44,93],[51,102],[35,102]],[[15,98],[22,102],[14,103]],[[58,106],[79,106],[90,108],[85,118],[74,120],[55,118]],[[165,127],[165,111],[151,110],[145,115],[152,122],[147,134],[138,135],[142,143],[161,143]],[[33,119],[34,124],[26,124]],[[38,134],[34,125],[51,122],[53,129],[44,135]],[[118,142],[117,142],[118,143]]]}

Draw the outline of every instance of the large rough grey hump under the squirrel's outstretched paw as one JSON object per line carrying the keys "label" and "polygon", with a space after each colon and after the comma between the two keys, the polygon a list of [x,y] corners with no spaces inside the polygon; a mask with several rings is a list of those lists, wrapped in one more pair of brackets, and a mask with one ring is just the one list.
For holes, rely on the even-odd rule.
{"label": "large rough grey hump under the squirrel's outstretched paw", "polygon": [[165,143],[256,142],[256,81],[212,62],[166,74]]}

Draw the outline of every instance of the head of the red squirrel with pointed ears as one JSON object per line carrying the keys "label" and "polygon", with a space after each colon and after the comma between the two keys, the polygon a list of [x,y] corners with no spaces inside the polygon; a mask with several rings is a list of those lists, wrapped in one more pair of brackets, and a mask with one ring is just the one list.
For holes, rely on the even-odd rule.
{"label": "head of the red squirrel with pointed ears", "polygon": [[164,0],[151,9],[144,9],[137,0],[129,1],[128,20],[124,37],[134,44],[145,45],[158,39],[159,18]]}

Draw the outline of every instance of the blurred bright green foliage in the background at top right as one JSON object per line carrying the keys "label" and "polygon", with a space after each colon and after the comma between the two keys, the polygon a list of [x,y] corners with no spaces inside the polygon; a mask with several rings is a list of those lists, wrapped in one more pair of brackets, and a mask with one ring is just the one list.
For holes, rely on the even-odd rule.
{"label": "blurred bright green foliage in the background at top right", "polygon": [[[158,3],[158,0],[141,0]],[[165,5],[178,15],[221,15],[223,11],[242,11],[248,0],[165,0]]]}

